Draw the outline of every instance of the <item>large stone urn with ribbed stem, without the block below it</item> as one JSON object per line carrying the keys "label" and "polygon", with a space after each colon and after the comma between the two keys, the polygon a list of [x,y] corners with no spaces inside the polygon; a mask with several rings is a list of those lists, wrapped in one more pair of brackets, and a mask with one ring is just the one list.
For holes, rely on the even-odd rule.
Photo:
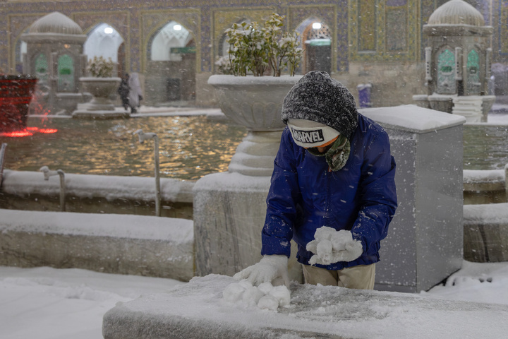
{"label": "large stone urn with ribbed stem, without the block below it", "polygon": [[282,100],[302,76],[210,76],[222,112],[248,134],[236,148],[229,172],[270,176],[284,129]]}

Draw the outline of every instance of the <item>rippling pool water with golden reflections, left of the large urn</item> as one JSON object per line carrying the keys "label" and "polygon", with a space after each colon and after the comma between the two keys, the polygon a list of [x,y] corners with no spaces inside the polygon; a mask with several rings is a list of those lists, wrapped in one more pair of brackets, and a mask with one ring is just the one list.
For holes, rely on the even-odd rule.
{"label": "rippling pool water with golden reflections, left of the large urn", "polygon": [[236,146],[246,135],[243,126],[209,121],[206,117],[143,117],[126,120],[30,118],[29,126],[58,129],[8,143],[5,168],[37,171],[43,165],[75,174],[154,176],[154,143],[141,144],[133,132],[143,129],[159,137],[161,177],[200,179],[226,172]]}

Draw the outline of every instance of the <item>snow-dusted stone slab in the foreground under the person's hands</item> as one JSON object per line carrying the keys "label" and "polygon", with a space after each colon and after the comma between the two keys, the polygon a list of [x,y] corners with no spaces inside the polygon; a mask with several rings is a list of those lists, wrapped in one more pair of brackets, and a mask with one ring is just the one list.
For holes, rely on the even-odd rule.
{"label": "snow-dusted stone slab in the foreground under the person's hands", "polygon": [[[398,292],[291,285],[278,313],[226,304],[235,280],[207,275],[164,294],[117,304],[104,314],[104,339],[144,338],[483,338],[506,326],[508,306]],[[508,330],[508,328],[507,328]]]}

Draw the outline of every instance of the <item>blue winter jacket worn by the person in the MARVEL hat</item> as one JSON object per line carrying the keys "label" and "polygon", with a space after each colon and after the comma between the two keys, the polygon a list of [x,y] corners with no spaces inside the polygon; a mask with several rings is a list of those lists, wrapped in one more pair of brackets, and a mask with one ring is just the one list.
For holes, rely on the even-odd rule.
{"label": "blue winter jacket worn by the person in the MARVEL hat", "polygon": [[316,266],[341,270],[379,261],[380,240],[387,236],[397,208],[395,161],[386,131],[361,114],[350,142],[346,165],[329,172],[325,157],[296,145],[284,129],[267,196],[262,255],[289,257],[294,239],[298,261],[308,265],[313,253],[306,245],[317,228],[328,226],[351,230],[362,242],[363,254],[355,261]]}

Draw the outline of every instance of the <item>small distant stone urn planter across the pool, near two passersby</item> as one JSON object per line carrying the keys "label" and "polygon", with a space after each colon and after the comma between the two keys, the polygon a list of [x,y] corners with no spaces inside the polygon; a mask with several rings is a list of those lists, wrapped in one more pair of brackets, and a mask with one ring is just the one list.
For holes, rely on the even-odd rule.
{"label": "small distant stone urn planter across the pool, near two passersby", "polygon": [[92,101],[87,104],[89,111],[114,111],[111,95],[116,93],[121,78],[80,78],[85,92],[92,95]]}

